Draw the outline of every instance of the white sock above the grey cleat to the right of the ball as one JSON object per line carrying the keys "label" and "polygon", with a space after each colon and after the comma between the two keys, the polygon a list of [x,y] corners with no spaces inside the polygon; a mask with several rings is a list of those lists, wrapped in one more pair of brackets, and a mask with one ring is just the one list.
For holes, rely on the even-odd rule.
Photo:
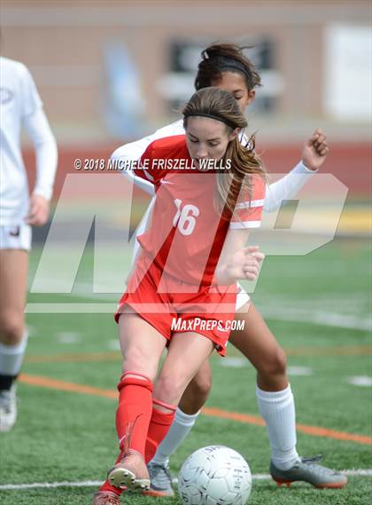
{"label": "white sock above the grey cleat to the right of the ball", "polygon": [[290,469],[298,460],[296,414],[289,385],[283,391],[262,391],[256,386],[260,414],[267,426],[272,462],[279,469]]}

